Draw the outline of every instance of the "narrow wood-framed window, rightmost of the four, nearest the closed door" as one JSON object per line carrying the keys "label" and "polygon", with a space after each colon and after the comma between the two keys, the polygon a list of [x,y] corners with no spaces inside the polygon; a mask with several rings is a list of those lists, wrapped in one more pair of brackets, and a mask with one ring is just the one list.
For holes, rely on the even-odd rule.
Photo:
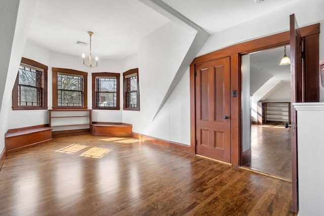
{"label": "narrow wood-framed window, rightmost of the four, nearest the closed door", "polygon": [[140,110],[138,68],[128,70],[124,76],[124,109]]}

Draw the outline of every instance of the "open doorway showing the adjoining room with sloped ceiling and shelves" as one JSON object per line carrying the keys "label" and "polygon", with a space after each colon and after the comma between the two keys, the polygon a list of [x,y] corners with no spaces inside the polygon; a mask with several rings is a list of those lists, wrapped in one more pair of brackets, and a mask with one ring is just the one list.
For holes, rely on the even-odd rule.
{"label": "open doorway showing the adjoining room with sloped ceiling and shelves", "polygon": [[279,65],[284,55],[282,46],[241,56],[241,164],[291,181],[290,65]]}

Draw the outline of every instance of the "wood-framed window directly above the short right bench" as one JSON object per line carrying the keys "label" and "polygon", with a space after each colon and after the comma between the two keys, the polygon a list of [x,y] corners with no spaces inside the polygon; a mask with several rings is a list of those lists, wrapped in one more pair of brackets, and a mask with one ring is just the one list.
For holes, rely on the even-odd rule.
{"label": "wood-framed window directly above the short right bench", "polygon": [[92,109],[119,109],[119,73],[92,73]]}

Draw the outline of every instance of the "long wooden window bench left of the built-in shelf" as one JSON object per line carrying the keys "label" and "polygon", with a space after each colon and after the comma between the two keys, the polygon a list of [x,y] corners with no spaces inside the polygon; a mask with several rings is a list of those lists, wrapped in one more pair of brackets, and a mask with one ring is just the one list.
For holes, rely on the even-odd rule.
{"label": "long wooden window bench left of the built-in shelf", "polygon": [[12,153],[50,140],[52,128],[46,124],[9,129],[5,135],[6,151]]}

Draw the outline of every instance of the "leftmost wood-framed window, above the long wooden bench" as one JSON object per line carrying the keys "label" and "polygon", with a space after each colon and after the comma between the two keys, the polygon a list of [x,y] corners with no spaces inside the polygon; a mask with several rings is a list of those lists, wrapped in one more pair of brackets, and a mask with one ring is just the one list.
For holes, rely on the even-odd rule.
{"label": "leftmost wood-framed window, above the long wooden bench", "polygon": [[47,109],[47,70],[39,62],[22,58],[12,91],[13,110]]}

